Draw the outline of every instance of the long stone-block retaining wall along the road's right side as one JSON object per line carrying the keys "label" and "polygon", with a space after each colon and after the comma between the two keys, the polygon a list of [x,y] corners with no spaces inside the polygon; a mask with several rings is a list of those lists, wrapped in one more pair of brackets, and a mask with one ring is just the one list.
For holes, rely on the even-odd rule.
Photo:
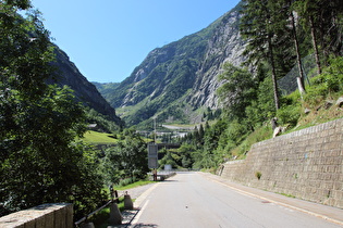
{"label": "long stone-block retaining wall along the road's right side", "polygon": [[221,176],[343,208],[343,118],[258,142]]}

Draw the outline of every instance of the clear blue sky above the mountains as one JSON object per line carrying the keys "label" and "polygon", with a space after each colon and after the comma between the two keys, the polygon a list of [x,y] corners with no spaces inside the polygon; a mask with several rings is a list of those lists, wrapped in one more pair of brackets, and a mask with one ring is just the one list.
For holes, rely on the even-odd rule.
{"label": "clear blue sky above the mountains", "polygon": [[120,83],[147,54],[194,34],[238,0],[32,0],[89,81]]}

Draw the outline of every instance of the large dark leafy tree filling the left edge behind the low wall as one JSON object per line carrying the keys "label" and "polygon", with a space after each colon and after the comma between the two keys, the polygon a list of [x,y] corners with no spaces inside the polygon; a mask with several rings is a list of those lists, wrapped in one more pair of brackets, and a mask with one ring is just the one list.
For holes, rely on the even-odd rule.
{"label": "large dark leafy tree filling the left edge behind the low wall", "polygon": [[53,49],[29,1],[0,4],[0,215],[41,203],[71,202],[78,215],[101,202],[94,154],[75,142],[84,107],[72,91],[48,86]]}

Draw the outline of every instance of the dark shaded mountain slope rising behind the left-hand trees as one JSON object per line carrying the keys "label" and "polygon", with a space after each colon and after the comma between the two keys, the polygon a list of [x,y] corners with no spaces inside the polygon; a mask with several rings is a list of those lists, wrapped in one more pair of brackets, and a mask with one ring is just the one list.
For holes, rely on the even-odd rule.
{"label": "dark shaded mountain slope rising behind the left-hand trees", "polygon": [[60,86],[66,85],[74,90],[75,97],[85,105],[96,110],[102,115],[109,116],[112,121],[121,124],[121,119],[115,115],[114,109],[105,100],[97,88],[84,77],[74,63],[72,63],[61,49],[54,49],[57,61],[53,63],[57,68],[57,83]]}

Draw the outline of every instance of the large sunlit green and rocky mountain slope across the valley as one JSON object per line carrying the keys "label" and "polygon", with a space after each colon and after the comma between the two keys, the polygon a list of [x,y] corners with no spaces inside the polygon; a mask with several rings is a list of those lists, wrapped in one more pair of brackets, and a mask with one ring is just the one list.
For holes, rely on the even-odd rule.
{"label": "large sunlit green and rocky mountain slope across the valley", "polygon": [[184,123],[198,122],[201,107],[218,107],[217,75],[223,62],[240,65],[241,3],[207,28],[152,50],[132,75],[105,94],[128,125],[157,116]]}

